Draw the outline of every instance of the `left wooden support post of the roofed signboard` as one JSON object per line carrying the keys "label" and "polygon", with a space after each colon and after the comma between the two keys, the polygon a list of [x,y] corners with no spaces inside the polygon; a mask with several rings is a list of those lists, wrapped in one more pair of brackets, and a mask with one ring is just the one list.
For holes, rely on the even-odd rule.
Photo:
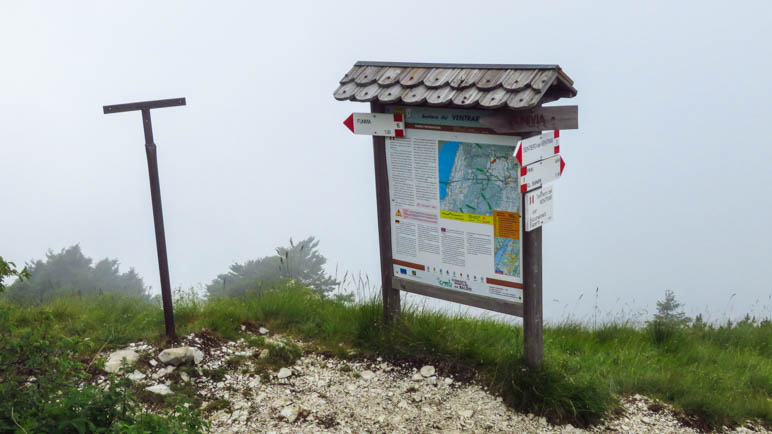
{"label": "left wooden support post of the roofed signboard", "polygon": [[[370,111],[383,113],[383,105],[370,103]],[[381,286],[383,320],[393,324],[401,312],[399,289],[394,288],[394,266],[391,256],[391,203],[389,200],[389,174],[386,166],[386,138],[373,136],[373,160],[375,161],[375,197],[378,204],[378,242],[381,250]]]}

